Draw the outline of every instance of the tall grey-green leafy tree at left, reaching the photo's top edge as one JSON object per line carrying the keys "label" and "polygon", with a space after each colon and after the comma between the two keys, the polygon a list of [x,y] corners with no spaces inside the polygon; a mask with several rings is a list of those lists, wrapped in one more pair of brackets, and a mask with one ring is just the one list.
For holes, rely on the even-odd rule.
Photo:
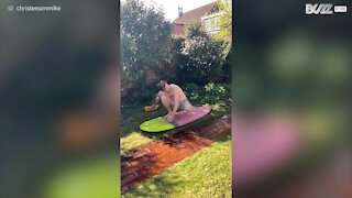
{"label": "tall grey-green leafy tree at left, reaching the photo's top edge", "polygon": [[[121,4],[122,85],[146,85],[147,77],[167,76],[170,24],[163,11],[139,0]],[[166,68],[165,68],[166,67]]]}

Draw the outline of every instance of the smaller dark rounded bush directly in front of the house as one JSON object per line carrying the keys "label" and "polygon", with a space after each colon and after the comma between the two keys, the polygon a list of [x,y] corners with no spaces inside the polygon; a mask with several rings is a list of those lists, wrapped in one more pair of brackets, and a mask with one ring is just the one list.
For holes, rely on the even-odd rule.
{"label": "smaller dark rounded bush directly in front of the house", "polygon": [[[183,59],[176,67],[176,76],[179,82],[195,82],[206,85],[210,81],[221,80],[223,77],[222,56],[223,45],[221,41],[215,41],[200,28],[200,24],[187,26],[184,47],[175,54]],[[182,56],[179,54],[183,54]]]}

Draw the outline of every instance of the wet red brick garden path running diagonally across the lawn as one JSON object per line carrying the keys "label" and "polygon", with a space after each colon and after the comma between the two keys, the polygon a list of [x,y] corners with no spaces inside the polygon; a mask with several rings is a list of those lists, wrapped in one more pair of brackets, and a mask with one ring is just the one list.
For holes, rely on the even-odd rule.
{"label": "wet red brick garden path running diagonally across the lawn", "polygon": [[122,194],[230,134],[231,117],[223,116],[124,153],[121,156]]}

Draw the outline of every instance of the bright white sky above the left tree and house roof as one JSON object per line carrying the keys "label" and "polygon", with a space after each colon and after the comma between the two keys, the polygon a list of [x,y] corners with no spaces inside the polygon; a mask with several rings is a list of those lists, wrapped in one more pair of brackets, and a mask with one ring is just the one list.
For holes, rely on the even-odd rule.
{"label": "bright white sky above the left tree and house roof", "polygon": [[[123,0],[122,0],[123,1]],[[183,8],[184,12],[194,10],[205,4],[215,2],[216,0],[141,0],[145,3],[160,4],[165,12],[166,20],[174,21],[178,16],[178,7]]]}

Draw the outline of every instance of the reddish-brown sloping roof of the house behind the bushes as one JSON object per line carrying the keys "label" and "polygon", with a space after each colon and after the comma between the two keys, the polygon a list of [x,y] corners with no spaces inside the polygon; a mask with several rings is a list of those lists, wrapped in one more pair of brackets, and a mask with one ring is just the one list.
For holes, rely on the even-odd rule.
{"label": "reddish-brown sloping roof of the house behind the bushes", "polygon": [[207,15],[212,12],[216,2],[199,7],[195,10],[190,10],[188,12],[183,13],[179,18],[174,20],[174,24],[187,24],[200,21],[200,18]]}

